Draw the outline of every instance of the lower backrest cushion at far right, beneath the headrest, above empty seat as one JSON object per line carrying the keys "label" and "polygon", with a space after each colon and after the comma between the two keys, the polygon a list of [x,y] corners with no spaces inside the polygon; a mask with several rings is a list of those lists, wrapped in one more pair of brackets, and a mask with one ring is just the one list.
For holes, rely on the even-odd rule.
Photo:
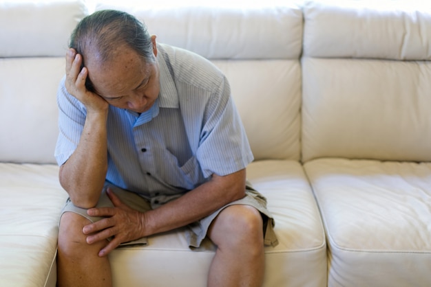
{"label": "lower backrest cushion at far right, beneath the headrest, above empty seat", "polygon": [[431,62],[304,58],[302,156],[431,161]]}

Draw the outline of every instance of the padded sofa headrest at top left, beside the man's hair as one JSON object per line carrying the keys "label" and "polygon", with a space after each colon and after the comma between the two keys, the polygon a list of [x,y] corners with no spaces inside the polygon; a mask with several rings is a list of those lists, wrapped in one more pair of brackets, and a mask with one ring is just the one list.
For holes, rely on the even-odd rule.
{"label": "padded sofa headrest at top left, beside the man's hair", "polygon": [[81,0],[1,1],[0,57],[63,56],[70,32],[87,14]]}

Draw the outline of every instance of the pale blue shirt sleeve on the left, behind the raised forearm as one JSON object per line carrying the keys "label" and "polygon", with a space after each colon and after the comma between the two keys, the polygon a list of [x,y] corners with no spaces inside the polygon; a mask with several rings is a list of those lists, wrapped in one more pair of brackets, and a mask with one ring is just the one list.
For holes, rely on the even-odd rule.
{"label": "pale blue shirt sleeve on the left, behind the raised forearm", "polygon": [[73,95],[67,93],[65,77],[59,84],[57,104],[59,106],[59,137],[57,138],[54,157],[58,165],[63,165],[78,146],[87,110]]}

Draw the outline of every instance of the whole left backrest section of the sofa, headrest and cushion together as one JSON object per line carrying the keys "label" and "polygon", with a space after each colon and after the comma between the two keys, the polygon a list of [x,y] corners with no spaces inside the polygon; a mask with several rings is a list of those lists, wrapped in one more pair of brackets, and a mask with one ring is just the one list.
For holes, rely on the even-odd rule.
{"label": "whole left backrest section of the sofa, headrest and cushion together", "polygon": [[55,163],[56,90],[83,1],[0,3],[0,161]]}

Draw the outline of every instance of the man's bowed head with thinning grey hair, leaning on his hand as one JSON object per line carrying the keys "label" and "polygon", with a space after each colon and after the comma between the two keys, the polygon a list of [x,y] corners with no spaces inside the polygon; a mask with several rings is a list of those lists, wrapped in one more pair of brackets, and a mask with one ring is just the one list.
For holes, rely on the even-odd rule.
{"label": "man's bowed head with thinning grey hair, leaning on his hand", "polygon": [[87,89],[109,104],[142,113],[156,100],[156,36],[134,16],[116,10],[95,12],[78,23],[70,47],[83,57]]}

